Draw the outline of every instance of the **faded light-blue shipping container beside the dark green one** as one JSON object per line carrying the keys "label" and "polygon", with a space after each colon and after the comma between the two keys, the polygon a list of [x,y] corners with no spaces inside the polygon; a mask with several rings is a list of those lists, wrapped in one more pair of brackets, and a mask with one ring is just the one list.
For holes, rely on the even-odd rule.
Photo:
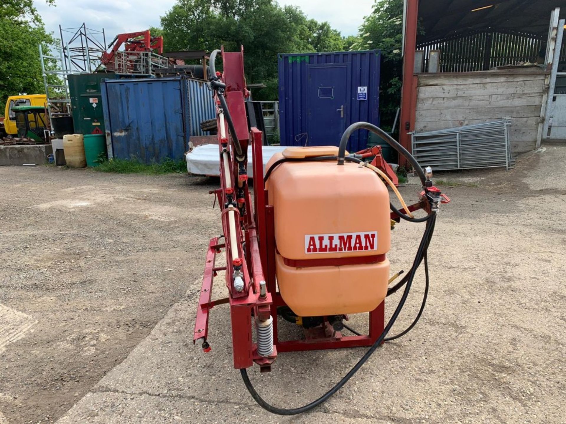
{"label": "faded light-blue shipping container beside the dark green one", "polygon": [[216,116],[207,85],[183,77],[106,80],[101,94],[108,152],[120,159],[180,159]]}

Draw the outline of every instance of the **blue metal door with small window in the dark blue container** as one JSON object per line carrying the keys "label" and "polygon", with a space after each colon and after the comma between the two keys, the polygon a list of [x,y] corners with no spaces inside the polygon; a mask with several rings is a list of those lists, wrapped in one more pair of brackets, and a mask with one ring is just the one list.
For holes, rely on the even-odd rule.
{"label": "blue metal door with small window in the dark blue container", "polygon": [[308,145],[337,146],[346,129],[346,64],[311,64],[307,72]]}

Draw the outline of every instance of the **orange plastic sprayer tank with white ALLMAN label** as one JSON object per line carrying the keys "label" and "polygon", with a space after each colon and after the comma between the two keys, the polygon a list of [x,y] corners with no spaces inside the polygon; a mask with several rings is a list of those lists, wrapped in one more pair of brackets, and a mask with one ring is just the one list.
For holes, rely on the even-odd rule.
{"label": "orange plastic sprayer tank with white ALLMAN label", "polygon": [[[290,148],[267,169],[313,152],[336,155],[337,148]],[[389,194],[375,172],[334,160],[284,162],[267,188],[286,304],[302,317],[374,310],[387,294],[391,246]]]}

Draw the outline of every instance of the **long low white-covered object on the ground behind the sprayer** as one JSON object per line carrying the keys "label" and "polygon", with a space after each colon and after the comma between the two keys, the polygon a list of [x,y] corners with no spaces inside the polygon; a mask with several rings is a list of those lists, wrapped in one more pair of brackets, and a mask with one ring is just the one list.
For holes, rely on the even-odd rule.
{"label": "long low white-covered object on the ground behind the sprayer", "polygon": [[[265,165],[271,157],[285,150],[287,146],[263,146],[263,172]],[[203,144],[196,146],[185,155],[187,171],[189,174],[220,176],[220,152],[217,144]],[[248,176],[253,178],[254,167],[252,163],[251,146],[248,146]]]}

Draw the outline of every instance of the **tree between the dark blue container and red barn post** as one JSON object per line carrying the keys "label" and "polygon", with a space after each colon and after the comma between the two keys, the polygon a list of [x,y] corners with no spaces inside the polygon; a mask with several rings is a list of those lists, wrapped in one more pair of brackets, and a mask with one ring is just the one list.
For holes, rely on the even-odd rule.
{"label": "tree between the dark blue container and red barn post", "polygon": [[352,41],[353,50],[381,50],[379,110],[384,126],[392,126],[401,103],[403,0],[377,0],[359,29],[358,40]]}

